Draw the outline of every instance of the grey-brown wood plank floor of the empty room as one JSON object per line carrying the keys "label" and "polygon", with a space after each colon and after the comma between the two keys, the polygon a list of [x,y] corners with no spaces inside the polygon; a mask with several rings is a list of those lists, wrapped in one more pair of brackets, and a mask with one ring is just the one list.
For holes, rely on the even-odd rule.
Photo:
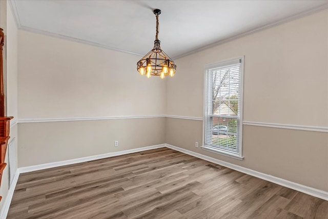
{"label": "grey-brown wood plank floor of the empty room", "polygon": [[168,148],[20,174],[10,218],[328,218],[328,202]]}

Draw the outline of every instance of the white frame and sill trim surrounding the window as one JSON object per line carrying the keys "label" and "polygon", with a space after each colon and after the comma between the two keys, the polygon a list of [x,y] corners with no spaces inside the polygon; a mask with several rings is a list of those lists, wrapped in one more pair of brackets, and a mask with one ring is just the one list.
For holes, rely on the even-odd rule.
{"label": "white frame and sill trim surrounding the window", "polygon": [[[226,150],[222,150],[219,148],[214,148],[212,146],[206,145],[206,119],[207,119],[207,114],[206,114],[206,95],[208,93],[207,90],[207,70],[211,69],[211,68],[216,68],[218,66],[222,66],[222,64],[224,63],[229,63],[232,61],[237,61],[240,60],[240,115],[239,115],[239,135],[238,135],[238,154],[237,153],[233,153],[230,151],[226,151]],[[237,160],[243,160],[243,156],[242,156],[242,121],[243,121],[243,85],[244,84],[244,56],[240,56],[240,57],[235,57],[235,58],[230,58],[230,59],[225,59],[222,60],[220,62],[216,62],[216,63],[212,63],[212,64],[207,64],[204,66],[204,88],[203,88],[203,136],[202,136],[202,146],[201,149],[203,150],[207,150],[210,152],[214,152],[214,153],[218,153],[220,155],[224,155],[224,156],[229,156],[232,158],[236,158]],[[210,103],[212,104],[212,102]],[[222,117],[222,116],[219,116]],[[226,116],[225,116],[226,117]],[[227,116],[227,117],[231,117],[231,116]]]}

